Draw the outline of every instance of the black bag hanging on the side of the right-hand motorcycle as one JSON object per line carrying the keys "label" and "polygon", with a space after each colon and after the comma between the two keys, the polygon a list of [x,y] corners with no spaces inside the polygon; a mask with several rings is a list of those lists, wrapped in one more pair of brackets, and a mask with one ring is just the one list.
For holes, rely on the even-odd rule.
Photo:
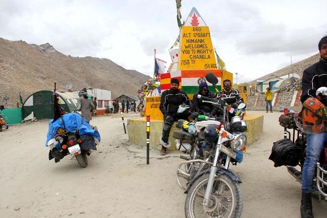
{"label": "black bag hanging on the side of the right-hand motorcycle", "polygon": [[290,139],[281,139],[274,142],[269,160],[278,166],[296,166],[302,154],[302,149]]}

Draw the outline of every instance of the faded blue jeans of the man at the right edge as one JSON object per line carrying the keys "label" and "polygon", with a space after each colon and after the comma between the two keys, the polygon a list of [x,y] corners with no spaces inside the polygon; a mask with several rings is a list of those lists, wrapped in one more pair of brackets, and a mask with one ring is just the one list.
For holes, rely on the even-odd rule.
{"label": "faded blue jeans of the man at the right edge", "polygon": [[307,134],[307,157],[302,168],[302,191],[310,192],[312,180],[316,174],[317,162],[327,142],[327,133]]}

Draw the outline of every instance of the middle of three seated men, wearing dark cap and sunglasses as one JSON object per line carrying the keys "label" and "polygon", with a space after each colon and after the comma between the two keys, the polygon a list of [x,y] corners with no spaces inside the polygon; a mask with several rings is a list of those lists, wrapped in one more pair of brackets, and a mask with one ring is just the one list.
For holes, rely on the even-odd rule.
{"label": "middle of three seated men, wearing dark cap and sunglasses", "polygon": [[198,95],[205,96],[207,98],[214,98],[215,94],[211,91],[208,90],[208,84],[206,82],[201,82],[199,85],[199,92],[195,93],[193,95],[193,107],[192,110],[199,115],[206,115],[206,116],[211,116],[213,115],[213,105],[211,103],[205,103],[202,102],[199,98]]}

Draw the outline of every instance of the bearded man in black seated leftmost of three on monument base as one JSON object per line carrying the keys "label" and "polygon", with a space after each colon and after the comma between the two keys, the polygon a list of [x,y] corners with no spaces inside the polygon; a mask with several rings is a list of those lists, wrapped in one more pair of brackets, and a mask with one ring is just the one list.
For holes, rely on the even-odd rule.
{"label": "bearded man in black seated leftmost of three on monument base", "polygon": [[177,114],[178,107],[182,103],[190,105],[191,100],[185,92],[178,89],[179,81],[172,78],[170,81],[170,90],[162,92],[160,99],[160,111],[164,115],[164,127],[162,128],[162,137],[160,137],[161,150],[160,155],[166,155],[167,147],[171,144],[168,142],[170,129],[174,121],[178,119],[188,119],[190,115],[188,112],[184,114]]}

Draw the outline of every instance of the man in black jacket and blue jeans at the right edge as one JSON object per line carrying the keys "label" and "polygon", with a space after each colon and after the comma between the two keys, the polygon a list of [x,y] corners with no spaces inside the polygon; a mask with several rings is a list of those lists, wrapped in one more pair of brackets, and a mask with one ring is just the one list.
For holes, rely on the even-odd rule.
{"label": "man in black jacket and blue jeans at the right edge", "polygon": [[[318,43],[320,60],[303,71],[301,102],[308,98],[316,98],[316,90],[327,86],[327,36],[320,39]],[[326,102],[322,103],[326,105]],[[302,168],[302,199],[301,217],[313,217],[311,192],[312,181],[315,176],[317,162],[321,151],[327,142],[327,133],[307,133],[307,156]]]}

